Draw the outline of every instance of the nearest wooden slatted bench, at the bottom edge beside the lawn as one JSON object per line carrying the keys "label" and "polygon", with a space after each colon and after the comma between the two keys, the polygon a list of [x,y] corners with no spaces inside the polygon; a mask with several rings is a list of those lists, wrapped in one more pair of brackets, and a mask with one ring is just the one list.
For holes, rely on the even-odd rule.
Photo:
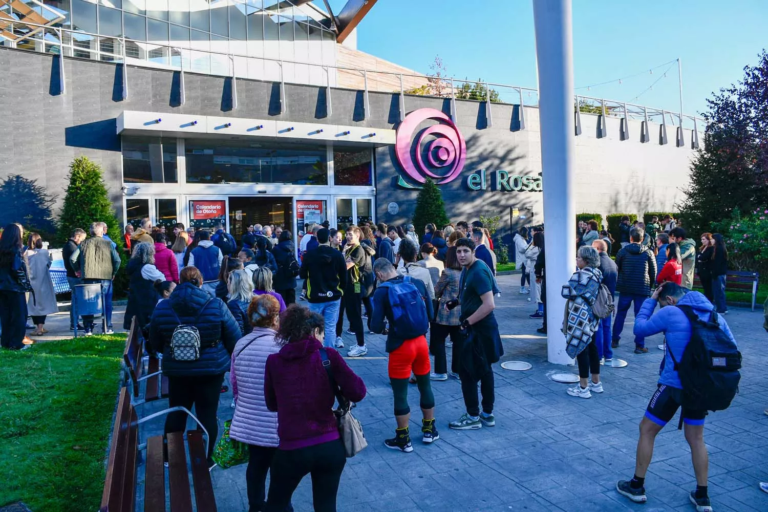
{"label": "nearest wooden slatted bench, at the bottom edge beside the lawn", "polygon": [[[104,493],[101,495],[99,512],[134,512],[136,507],[137,464],[141,446],[138,444],[139,424],[158,415],[184,408],[170,408],[137,420],[136,410],[131,405],[127,388],[121,388],[118,411],[114,418],[114,430],[107,463],[107,477],[104,479]],[[191,414],[190,414],[191,415]],[[194,417],[193,417],[194,418]],[[197,420],[196,420],[197,421]],[[200,425],[202,428],[202,425]],[[203,429],[205,432],[205,429]],[[146,464],[144,468],[144,512],[165,512],[166,500],[171,512],[192,512],[192,498],[197,512],[216,512],[214,487],[210,482],[207,467],[208,434],[199,430],[187,431],[189,466],[182,432],[167,434],[168,467],[163,464],[163,436],[147,439]],[[192,474],[190,488],[189,473]],[[141,498],[140,498],[141,500]]]}

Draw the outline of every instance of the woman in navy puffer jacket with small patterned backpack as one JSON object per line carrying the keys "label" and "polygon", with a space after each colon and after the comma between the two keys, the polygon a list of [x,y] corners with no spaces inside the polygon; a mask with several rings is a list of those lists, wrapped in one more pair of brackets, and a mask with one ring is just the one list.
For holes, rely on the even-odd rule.
{"label": "woman in navy puffer jacket with small patterned backpack", "polygon": [[[168,406],[190,410],[194,405],[197,419],[208,431],[208,467],[212,467],[210,456],[219,434],[216,411],[221,384],[230,369],[240,329],[227,305],[201,288],[200,270],[187,266],[179,277],[181,284],[152,313],[150,344],[163,354]],[[200,357],[194,361],[176,361],[171,354],[170,339],[179,325],[194,325],[200,333]],[[187,414],[172,412],[165,421],[165,433],[184,431],[186,426]]]}

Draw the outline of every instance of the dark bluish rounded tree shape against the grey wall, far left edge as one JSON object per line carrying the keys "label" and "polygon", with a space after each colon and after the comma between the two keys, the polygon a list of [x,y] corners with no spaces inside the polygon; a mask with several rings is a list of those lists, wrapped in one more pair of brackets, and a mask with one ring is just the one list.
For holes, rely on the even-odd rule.
{"label": "dark bluish rounded tree shape against the grey wall, far left edge", "polygon": [[55,231],[51,216],[51,204],[55,198],[38,185],[20,174],[0,178],[0,226],[18,222],[27,231],[37,231],[43,239],[49,239]]}

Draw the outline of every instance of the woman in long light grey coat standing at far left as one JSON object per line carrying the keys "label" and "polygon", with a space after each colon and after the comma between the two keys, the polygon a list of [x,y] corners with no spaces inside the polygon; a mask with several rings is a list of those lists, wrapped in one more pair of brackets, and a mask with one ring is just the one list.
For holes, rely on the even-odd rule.
{"label": "woman in long light grey coat standing at far left", "polygon": [[25,257],[32,285],[32,291],[27,300],[27,311],[32,317],[32,323],[35,324],[35,330],[31,335],[41,336],[48,332],[43,328],[45,317],[58,313],[56,292],[51,274],[48,273],[48,269],[51,268],[51,255],[48,249],[43,249],[43,240],[38,233],[29,235],[27,246]]}

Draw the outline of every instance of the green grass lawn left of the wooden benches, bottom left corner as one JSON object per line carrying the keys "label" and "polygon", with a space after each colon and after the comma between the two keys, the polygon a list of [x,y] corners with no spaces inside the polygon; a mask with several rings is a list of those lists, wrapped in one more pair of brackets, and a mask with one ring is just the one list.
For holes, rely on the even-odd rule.
{"label": "green grass lawn left of the wooden benches, bottom left corner", "polygon": [[0,507],[98,510],[125,335],[0,352]]}

